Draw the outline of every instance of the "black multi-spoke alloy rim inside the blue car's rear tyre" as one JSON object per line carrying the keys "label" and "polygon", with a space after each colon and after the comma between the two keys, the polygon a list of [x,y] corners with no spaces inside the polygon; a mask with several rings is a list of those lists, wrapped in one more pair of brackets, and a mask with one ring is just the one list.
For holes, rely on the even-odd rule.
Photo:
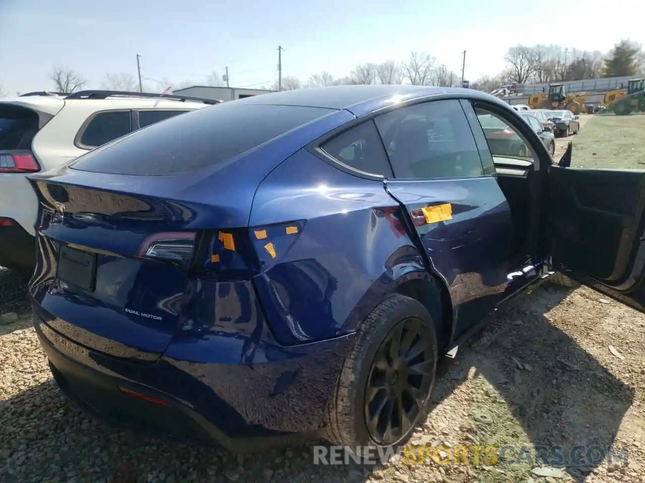
{"label": "black multi-spoke alloy rim inside the blue car's rear tyre", "polygon": [[365,392],[370,437],[389,446],[415,426],[433,383],[435,342],[424,321],[408,317],[377,350]]}

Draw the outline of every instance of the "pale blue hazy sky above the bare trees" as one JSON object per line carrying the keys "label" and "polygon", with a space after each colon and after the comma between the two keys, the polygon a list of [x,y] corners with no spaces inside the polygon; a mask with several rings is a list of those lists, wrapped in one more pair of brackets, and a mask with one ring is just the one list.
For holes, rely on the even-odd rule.
{"label": "pale blue hazy sky above the bare trees", "polygon": [[[405,61],[413,50],[430,53],[457,75],[465,50],[464,77],[475,81],[499,73],[504,53],[515,44],[601,52],[621,38],[645,44],[639,15],[599,26],[606,1],[513,7],[520,3],[104,0],[92,6],[0,0],[0,85],[6,95],[50,90],[52,67],[63,66],[81,73],[86,87],[99,88],[108,72],[136,79],[138,53],[143,82],[150,86],[162,79],[204,84],[228,66],[232,87],[269,88],[277,79],[279,45],[283,76],[303,82],[321,71],[344,77],[363,62]],[[630,3],[640,5],[621,5]]]}

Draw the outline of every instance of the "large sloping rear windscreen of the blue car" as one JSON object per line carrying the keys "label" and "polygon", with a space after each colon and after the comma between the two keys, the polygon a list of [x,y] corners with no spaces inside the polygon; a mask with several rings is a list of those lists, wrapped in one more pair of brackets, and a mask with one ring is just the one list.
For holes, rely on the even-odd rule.
{"label": "large sloping rear windscreen of the blue car", "polygon": [[215,166],[332,112],[223,102],[197,109],[77,158],[70,167],[114,175],[174,175]]}

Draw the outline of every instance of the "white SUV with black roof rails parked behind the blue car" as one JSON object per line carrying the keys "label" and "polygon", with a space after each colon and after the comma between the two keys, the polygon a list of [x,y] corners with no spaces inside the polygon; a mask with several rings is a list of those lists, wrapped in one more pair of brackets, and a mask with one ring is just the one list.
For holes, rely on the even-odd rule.
{"label": "white SUV with black roof rails parked behind the blue car", "polygon": [[169,117],[221,101],[121,91],[0,99],[0,266],[33,270],[38,200],[26,176]]}

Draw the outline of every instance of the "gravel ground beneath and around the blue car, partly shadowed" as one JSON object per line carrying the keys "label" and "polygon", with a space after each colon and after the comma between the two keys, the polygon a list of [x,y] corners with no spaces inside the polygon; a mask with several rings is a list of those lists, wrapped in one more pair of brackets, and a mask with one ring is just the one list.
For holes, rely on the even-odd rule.
{"label": "gravel ground beneath and around the blue car, partly shadowed", "polygon": [[[567,140],[558,141],[562,150]],[[378,469],[321,466],[313,464],[315,442],[232,455],[108,428],[57,390],[30,327],[26,282],[0,271],[0,314],[15,314],[0,317],[0,483],[645,482],[645,316],[586,287],[546,285],[494,317],[444,361],[434,408],[413,437],[449,451],[595,443],[628,450],[628,465],[564,472],[526,462],[411,466],[400,456]]]}

